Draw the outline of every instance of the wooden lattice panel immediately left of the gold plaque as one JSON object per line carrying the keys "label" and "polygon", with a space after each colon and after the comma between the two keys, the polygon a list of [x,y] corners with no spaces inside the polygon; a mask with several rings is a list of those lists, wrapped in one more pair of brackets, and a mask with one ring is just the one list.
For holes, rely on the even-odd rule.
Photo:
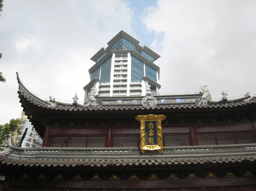
{"label": "wooden lattice panel immediately left of the gold plaque", "polygon": [[114,136],[113,147],[139,147],[138,135]]}

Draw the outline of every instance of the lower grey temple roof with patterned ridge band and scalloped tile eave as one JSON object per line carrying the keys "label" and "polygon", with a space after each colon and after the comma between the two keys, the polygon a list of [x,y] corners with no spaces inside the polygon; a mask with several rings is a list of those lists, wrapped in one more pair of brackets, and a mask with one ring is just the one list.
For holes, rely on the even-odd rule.
{"label": "lower grey temple roof with patterned ridge band and scalloped tile eave", "polygon": [[3,149],[8,154],[0,157],[1,164],[41,167],[187,165],[256,160],[256,144],[165,147],[162,153],[146,151],[143,154],[139,148],[1,148]]}

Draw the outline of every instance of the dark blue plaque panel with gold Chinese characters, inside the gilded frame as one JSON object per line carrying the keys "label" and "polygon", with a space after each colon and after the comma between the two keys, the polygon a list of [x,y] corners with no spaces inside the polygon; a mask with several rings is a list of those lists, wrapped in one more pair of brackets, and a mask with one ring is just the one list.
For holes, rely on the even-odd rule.
{"label": "dark blue plaque panel with gold Chinese characters, inside the gilded frame", "polygon": [[145,121],[145,145],[157,145],[157,121]]}

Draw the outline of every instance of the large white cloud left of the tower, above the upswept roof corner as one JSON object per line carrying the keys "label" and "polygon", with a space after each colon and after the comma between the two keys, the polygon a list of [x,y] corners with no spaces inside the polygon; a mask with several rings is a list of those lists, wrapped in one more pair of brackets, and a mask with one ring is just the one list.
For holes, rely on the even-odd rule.
{"label": "large white cloud left of the tower, above the upswept roof corner", "polygon": [[0,17],[0,124],[21,116],[16,71],[47,98],[72,100],[89,82],[90,58],[120,30],[136,37],[130,3],[119,1],[4,1]]}

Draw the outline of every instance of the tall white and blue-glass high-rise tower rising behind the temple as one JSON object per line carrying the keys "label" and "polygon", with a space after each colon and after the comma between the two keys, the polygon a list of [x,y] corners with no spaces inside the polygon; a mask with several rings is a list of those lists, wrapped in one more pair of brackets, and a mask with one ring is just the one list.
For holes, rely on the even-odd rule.
{"label": "tall white and blue-glass high-rise tower rising behind the temple", "polygon": [[145,96],[151,85],[153,95],[159,94],[159,67],[153,62],[160,56],[124,31],[120,31],[92,58],[90,82],[84,87],[85,100],[91,88],[99,96]]}

